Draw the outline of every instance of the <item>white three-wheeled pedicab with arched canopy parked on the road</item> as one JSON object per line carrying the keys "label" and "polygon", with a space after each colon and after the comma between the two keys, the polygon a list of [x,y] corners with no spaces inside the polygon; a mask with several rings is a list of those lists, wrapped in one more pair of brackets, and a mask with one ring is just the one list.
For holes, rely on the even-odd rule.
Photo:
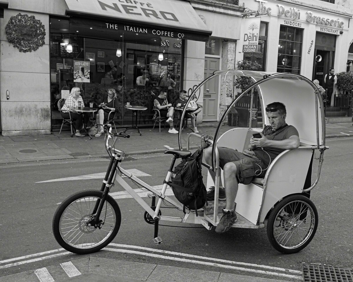
{"label": "white three-wheeled pedicab with arched canopy parked on the road", "polygon": [[[270,243],[283,253],[295,253],[307,246],[315,235],[318,225],[317,209],[310,200],[310,191],[318,183],[324,151],[328,149],[325,146],[322,98],[316,86],[309,79],[298,74],[215,71],[192,91],[181,112],[180,123],[184,120],[187,105],[194,96],[198,96],[200,91],[209,85],[210,81],[222,79],[233,83],[235,76],[249,79],[250,86],[235,97],[225,110],[213,139],[190,133],[186,138],[186,148],[183,148],[182,130],[179,130],[180,150],[168,149],[164,152],[174,157],[160,190],[122,167],[121,161],[125,157],[125,152],[118,149],[118,141],[122,139],[118,137],[129,136],[122,131],[113,134],[111,125],[104,125],[107,129],[105,146],[111,160],[101,189],[76,192],[60,204],[52,224],[54,237],[58,243],[70,252],[88,254],[102,249],[114,239],[121,223],[119,205],[109,195],[114,182],[125,189],[145,209],[145,221],[154,225],[155,244],[162,242],[161,237],[158,236],[158,224],[163,220],[200,224],[208,230],[213,229],[219,223],[222,208],[225,207],[224,202],[218,200],[223,173],[219,167],[217,147],[243,151],[249,144],[250,136],[269,124],[265,117],[265,106],[272,102],[282,102],[287,108],[286,122],[297,128],[299,132],[300,147],[285,150],[279,154],[268,167],[264,178],[255,178],[248,185],[239,184],[235,199],[238,221],[232,227],[267,226]],[[241,102],[243,97],[246,98],[245,102]],[[228,114],[234,110],[237,110],[239,115],[244,114],[245,119],[249,121],[248,126],[231,128],[219,136]],[[238,119],[239,124],[242,121],[244,119]],[[216,175],[215,183],[210,175],[207,178],[207,187],[215,186],[214,201],[209,201],[198,210],[185,209],[185,206],[169,197],[170,194],[167,195],[175,161],[191,155],[189,151],[191,138],[201,141],[200,144],[207,142],[213,145],[212,164],[203,163],[203,165],[213,170]],[[319,152],[318,156],[315,155],[316,151]],[[318,171],[316,179],[312,182],[314,156],[318,159]],[[148,204],[137,194],[126,179],[149,191],[148,197],[152,199],[152,203]],[[168,208],[172,205],[180,211],[185,210],[185,214],[183,213],[183,216],[162,215],[162,204],[167,204]]]}

